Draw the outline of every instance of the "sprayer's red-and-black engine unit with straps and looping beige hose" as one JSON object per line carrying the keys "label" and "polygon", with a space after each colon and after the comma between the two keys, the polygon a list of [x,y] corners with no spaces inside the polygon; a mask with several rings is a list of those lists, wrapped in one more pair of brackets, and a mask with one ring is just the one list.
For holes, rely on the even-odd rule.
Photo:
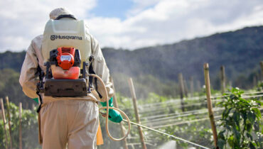
{"label": "sprayer's red-and-black engine unit with straps and looping beige hose", "polygon": [[[43,82],[43,80],[41,80],[38,84],[38,91],[43,93],[45,96],[87,96],[87,93],[91,93],[92,89],[92,82],[87,82],[87,77],[89,77],[89,80],[92,80],[92,77],[95,77],[102,84],[102,90],[106,99],[109,99],[103,80],[95,74],[86,74],[85,67],[87,64],[85,62],[83,62],[82,70],[80,70],[80,59],[79,50],[72,47],[60,47],[58,49],[51,50],[49,61],[45,62],[45,81]],[[90,58],[90,67],[92,66],[91,59],[92,58]],[[108,100],[107,106],[100,108],[100,110],[102,109],[106,109],[106,131],[109,138],[115,141],[127,138],[129,131],[131,130],[131,123],[129,122],[127,114],[120,109],[109,107]],[[119,113],[127,118],[125,121],[127,121],[129,128],[127,134],[122,138],[113,138],[109,133],[109,109],[119,111]],[[40,109],[38,109],[38,111],[40,111]]]}

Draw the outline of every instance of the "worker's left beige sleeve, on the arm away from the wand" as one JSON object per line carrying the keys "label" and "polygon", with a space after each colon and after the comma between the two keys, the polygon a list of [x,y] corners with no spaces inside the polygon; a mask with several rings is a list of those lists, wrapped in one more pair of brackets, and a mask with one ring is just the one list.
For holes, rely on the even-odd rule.
{"label": "worker's left beige sleeve, on the arm away from the wand", "polygon": [[21,87],[23,88],[23,92],[26,94],[26,96],[32,99],[38,97],[38,95],[36,94],[36,84],[38,83],[38,79],[36,76],[38,60],[33,47],[34,43],[32,41],[31,45],[26,51],[26,57],[23,61],[23,66],[19,78],[19,82],[21,84]]}

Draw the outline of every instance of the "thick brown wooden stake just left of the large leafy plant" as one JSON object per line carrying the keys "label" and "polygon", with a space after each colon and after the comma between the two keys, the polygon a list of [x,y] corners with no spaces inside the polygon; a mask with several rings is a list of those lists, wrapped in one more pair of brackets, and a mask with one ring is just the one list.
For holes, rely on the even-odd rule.
{"label": "thick brown wooden stake just left of the large leafy plant", "polygon": [[206,99],[208,100],[208,114],[210,118],[210,124],[213,131],[213,138],[215,143],[215,148],[218,144],[218,133],[215,127],[215,118],[213,114],[213,106],[211,101],[211,91],[210,91],[210,77],[209,77],[209,66],[208,63],[204,64],[204,72],[205,72],[205,91],[206,91]]}

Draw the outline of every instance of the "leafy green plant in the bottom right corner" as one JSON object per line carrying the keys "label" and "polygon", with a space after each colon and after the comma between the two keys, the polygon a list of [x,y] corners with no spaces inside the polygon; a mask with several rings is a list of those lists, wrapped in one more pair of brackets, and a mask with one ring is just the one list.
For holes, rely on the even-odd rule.
{"label": "leafy green plant in the bottom right corner", "polygon": [[257,99],[243,99],[238,88],[232,88],[225,95],[225,101],[218,103],[224,107],[218,133],[219,148],[263,148],[261,113],[262,102]]}

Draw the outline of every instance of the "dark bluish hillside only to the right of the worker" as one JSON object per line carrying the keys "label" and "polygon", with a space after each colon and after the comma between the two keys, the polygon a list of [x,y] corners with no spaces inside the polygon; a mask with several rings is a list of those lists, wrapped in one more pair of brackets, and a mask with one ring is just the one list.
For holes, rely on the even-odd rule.
{"label": "dark bluish hillside only to the right of the worker", "polygon": [[112,72],[154,75],[173,81],[182,72],[186,78],[203,80],[203,63],[208,62],[213,79],[220,65],[225,65],[227,78],[235,83],[240,75],[248,77],[259,71],[262,40],[263,27],[259,26],[134,51],[107,48],[103,53]]}

